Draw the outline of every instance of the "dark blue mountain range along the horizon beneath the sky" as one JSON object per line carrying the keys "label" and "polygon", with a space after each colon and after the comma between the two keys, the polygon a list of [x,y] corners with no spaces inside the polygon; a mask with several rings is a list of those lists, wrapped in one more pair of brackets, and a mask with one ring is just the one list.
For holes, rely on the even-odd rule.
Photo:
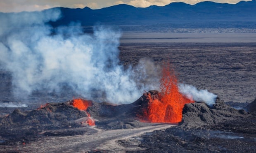
{"label": "dark blue mountain range along the horizon beneath the sky", "polygon": [[119,26],[173,24],[173,26],[186,28],[218,27],[219,25],[256,26],[256,0],[241,1],[237,4],[205,1],[195,5],[172,2],[163,7],[154,5],[146,8],[125,4],[102,9],[58,8],[62,12],[62,18],[51,22],[52,26],[67,26],[71,22],[80,22],[82,26],[93,26],[97,23]]}

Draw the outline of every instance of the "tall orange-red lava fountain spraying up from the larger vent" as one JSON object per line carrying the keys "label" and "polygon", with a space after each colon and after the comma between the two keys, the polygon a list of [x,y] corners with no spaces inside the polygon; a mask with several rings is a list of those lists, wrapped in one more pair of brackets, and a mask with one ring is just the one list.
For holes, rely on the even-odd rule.
{"label": "tall orange-red lava fountain spraying up from the larger vent", "polygon": [[182,110],[186,103],[194,102],[179,92],[178,79],[169,65],[163,68],[160,80],[159,98],[152,98],[148,93],[147,110],[143,112],[143,120],[152,123],[178,123],[182,119]]}

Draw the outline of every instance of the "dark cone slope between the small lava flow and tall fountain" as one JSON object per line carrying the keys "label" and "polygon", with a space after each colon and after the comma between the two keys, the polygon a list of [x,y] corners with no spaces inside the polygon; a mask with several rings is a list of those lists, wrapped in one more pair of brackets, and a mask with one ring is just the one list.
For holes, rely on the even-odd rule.
{"label": "dark cone slope between the small lava flow and tall fountain", "polygon": [[158,98],[158,91],[151,90],[144,93],[138,100],[131,104],[113,105],[106,102],[92,102],[88,113],[94,118],[95,125],[104,129],[120,129],[142,127],[150,123],[140,122],[143,110],[147,109],[147,96]]}

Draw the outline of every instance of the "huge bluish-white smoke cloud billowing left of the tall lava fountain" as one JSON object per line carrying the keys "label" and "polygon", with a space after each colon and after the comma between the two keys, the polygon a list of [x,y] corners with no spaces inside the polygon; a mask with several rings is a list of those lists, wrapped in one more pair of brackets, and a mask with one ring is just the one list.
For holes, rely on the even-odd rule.
{"label": "huge bluish-white smoke cloud billowing left of the tall lava fountain", "polygon": [[89,35],[76,26],[52,35],[45,23],[58,16],[58,10],[0,14],[0,64],[12,73],[15,95],[62,93],[68,86],[88,99],[130,103],[157,89],[158,77],[152,74],[158,67],[150,61],[140,60],[134,70],[119,65],[120,31],[97,26]]}

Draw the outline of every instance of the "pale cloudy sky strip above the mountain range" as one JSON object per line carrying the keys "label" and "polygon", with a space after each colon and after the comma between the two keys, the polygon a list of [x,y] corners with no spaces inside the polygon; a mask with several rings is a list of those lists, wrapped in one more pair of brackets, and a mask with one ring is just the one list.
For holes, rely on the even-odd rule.
{"label": "pale cloudy sky strip above the mountain range", "polygon": [[[205,0],[0,0],[0,12],[37,11],[59,6],[71,8],[83,8],[87,6],[91,9],[99,9],[118,4],[128,4],[135,7],[149,7],[150,5],[164,6],[171,2],[185,2],[193,5],[201,1]],[[212,1],[235,4],[240,0]]]}

